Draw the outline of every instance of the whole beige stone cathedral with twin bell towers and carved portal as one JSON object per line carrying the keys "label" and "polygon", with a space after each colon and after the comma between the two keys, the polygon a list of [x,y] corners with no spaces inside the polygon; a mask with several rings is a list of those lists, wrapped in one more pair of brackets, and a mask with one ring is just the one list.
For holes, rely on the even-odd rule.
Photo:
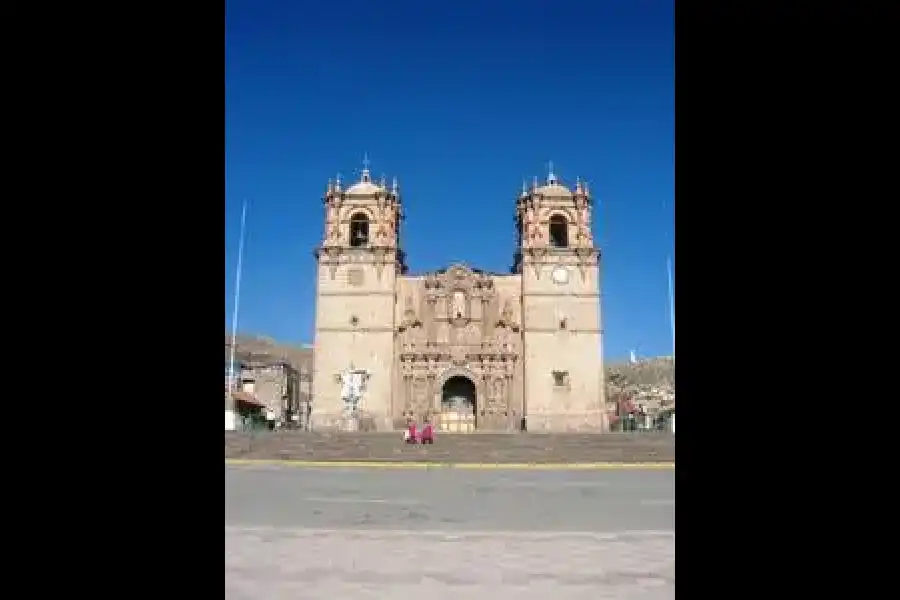
{"label": "whole beige stone cathedral with twin bell towers and carved portal", "polygon": [[[323,200],[313,429],[399,430],[412,417],[445,432],[607,430],[585,183],[567,187],[551,169],[523,184],[510,274],[409,273],[396,178],[365,168],[352,185],[329,181]],[[352,406],[347,372],[364,374]]]}

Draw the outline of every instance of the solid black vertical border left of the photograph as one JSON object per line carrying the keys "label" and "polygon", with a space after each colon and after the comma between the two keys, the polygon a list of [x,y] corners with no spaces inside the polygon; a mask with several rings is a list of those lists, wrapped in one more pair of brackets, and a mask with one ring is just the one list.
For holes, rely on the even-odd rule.
{"label": "solid black vertical border left of the photograph", "polygon": [[8,435],[28,482],[9,530],[41,545],[25,585],[222,583],[223,8],[9,23],[7,340],[46,416]]}

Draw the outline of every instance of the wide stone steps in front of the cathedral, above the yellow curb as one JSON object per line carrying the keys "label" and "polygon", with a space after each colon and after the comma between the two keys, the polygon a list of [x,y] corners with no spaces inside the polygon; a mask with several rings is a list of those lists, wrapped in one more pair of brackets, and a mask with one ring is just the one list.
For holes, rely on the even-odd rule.
{"label": "wide stone steps in front of the cathedral, above the yellow curb", "polygon": [[668,433],[439,434],[433,445],[398,433],[225,432],[225,458],[442,463],[674,462]]}

